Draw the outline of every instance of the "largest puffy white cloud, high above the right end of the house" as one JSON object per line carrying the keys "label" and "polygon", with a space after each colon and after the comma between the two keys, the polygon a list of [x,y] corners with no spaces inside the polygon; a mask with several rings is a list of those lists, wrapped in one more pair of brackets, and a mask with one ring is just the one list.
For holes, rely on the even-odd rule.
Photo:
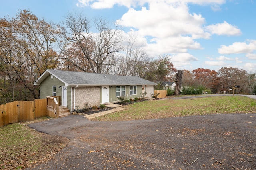
{"label": "largest puffy white cloud, high above the right end of the house", "polygon": [[202,29],[204,18],[200,14],[190,14],[188,10],[188,6],[182,2],[152,2],[148,9],[130,8],[117,22],[124,27],[138,29],[142,36],[164,38],[190,35],[193,39],[209,38],[210,34]]}

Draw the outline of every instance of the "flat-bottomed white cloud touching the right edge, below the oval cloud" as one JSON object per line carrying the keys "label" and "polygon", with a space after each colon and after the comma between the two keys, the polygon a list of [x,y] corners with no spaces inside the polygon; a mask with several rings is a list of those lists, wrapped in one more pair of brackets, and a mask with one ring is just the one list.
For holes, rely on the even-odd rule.
{"label": "flat-bottomed white cloud touching the right edge, below the oval cloud", "polygon": [[220,54],[240,54],[240,53],[252,53],[256,50],[256,40],[247,40],[246,42],[235,42],[232,45],[221,45],[218,48]]}

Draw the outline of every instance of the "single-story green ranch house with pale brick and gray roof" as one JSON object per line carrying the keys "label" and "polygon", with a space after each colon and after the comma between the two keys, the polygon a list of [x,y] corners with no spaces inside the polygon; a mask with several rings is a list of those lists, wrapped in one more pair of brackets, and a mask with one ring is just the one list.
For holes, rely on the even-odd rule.
{"label": "single-story green ranch house with pale brick and gray roof", "polygon": [[119,102],[118,96],[139,98],[147,92],[146,97],[151,97],[157,84],[132,76],[46,70],[34,85],[40,86],[40,98],[61,96],[60,105],[73,111],[83,109],[86,104]]}

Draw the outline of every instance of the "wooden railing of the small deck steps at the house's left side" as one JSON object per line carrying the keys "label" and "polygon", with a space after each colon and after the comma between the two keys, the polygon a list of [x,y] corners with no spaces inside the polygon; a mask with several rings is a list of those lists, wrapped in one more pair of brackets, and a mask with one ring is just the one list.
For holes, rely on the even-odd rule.
{"label": "wooden railing of the small deck steps at the house's left side", "polygon": [[[59,117],[60,96],[47,96],[47,110]],[[53,117],[53,116],[52,116]]]}

